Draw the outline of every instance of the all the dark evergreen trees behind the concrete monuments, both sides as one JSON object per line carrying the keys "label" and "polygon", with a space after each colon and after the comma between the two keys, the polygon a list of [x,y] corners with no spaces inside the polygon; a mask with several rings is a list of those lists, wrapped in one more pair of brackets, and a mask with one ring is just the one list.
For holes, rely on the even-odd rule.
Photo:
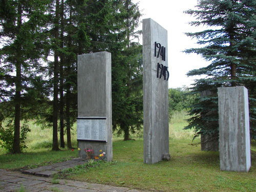
{"label": "all the dark evergreen trees behind the concrete monuments, both sides", "polygon": [[[52,150],[72,148],[77,117],[77,55],[112,54],[113,130],[129,140],[142,129],[142,46],[138,4],[132,1],[2,1],[0,8],[0,139],[12,153],[26,147],[29,120],[52,129]],[[187,33],[202,48],[186,50],[212,61],[188,75],[206,75],[193,87],[169,90],[169,115],[190,110],[195,136],[218,135],[217,87],[249,90],[251,139],[256,138],[255,1],[199,1],[188,10],[215,27]],[[216,28],[217,27],[217,28]],[[209,94],[201,93],[208,91]],[[185,93],[185,94],[183,94]],[[59,139],[58,139],[59,132]],[[59,142],[58,142],[59,140]],[[58,144],[59,143],[59,144]]]}

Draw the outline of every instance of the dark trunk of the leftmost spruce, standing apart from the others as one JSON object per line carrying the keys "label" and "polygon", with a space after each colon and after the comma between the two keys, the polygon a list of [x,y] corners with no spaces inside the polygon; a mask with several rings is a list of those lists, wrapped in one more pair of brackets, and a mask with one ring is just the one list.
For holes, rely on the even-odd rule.
{"label": "dark trunk of the leftmost spruce, standing apart from the others", "polygon": [[[18,18],[17,18],[17,29],[18,33],[22,25],[22,4],[18,2]],[[20,153],[20,91],[22,89],[21,73],[22,63],[20,46],[18,46],[17,58],[16,58],[16,79],[15,79],[15,118],[14,118],[14,140],[13,140],[13,153]]]}

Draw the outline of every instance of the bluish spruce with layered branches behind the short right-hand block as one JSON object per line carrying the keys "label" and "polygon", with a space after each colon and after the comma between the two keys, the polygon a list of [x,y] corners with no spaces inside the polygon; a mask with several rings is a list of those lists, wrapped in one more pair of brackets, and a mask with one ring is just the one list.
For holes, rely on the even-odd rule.
{"label": "bluish spruce with layered branches behind the short right-hand block", "polygon": [[[188,76],[206,75],[198,79],[193,94],[201,97],[190,110],[193,115],[185,129],[195,129],[195,137],[216,136],[218,139],[218,87],[245,86],[249,93],[250,135],[256,139],[256,2],[251,0],[201,0],[197,10],[188,10],[196,21],[190,25],[208,26],[207,30],[186,33],[197,38],[200,48],[186,53],[200,54],[210,65],[188,72]],[[202,94],[207,91],[207,94]]]}

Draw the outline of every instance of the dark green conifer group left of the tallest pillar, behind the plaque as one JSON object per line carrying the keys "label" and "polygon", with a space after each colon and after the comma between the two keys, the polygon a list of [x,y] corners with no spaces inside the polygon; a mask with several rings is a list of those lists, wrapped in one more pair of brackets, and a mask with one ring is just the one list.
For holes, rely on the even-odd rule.
{"label": "dark green conifer group left of the tallest pillar, behind the plaque", "polygon": [[66,126],[72,148],[79,54],[112,53],[114,127],[128,137],[140,127],[142,48],[134,42],[140,16],[137,4],[123,0],[1,2],[0,122],[14,122],[14,153],[20,152],[20,121],[32,118],[53,128],[53,150],[58,129],[65,146]]}

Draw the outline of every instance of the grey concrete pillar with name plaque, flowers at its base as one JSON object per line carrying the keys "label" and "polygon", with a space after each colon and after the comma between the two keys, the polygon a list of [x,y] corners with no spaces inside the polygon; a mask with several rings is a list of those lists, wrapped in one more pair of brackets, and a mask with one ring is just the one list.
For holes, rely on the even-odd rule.
{"label": "grey concrete pillar with name plaque, flowers at its base", "polygon": [[[105,152],[112,160],[111,53],[78,55],[78,118],[79,157]],[[101,152],[100,152],[101,150]]]}

